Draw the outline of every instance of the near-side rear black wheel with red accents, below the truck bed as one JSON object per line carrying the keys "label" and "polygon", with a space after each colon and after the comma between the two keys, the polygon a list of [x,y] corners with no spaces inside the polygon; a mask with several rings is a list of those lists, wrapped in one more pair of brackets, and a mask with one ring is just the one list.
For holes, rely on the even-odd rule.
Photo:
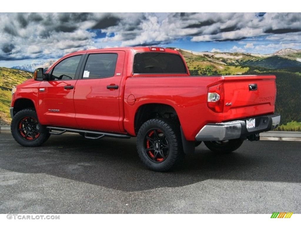
{"label": "near-side rear black wheel with red accents, below the truck bed", "polygon": [[137,134],[137,150],[142,162],[154,171],[169,171],[184,159],[177,123],[157,118],[146,121]]}

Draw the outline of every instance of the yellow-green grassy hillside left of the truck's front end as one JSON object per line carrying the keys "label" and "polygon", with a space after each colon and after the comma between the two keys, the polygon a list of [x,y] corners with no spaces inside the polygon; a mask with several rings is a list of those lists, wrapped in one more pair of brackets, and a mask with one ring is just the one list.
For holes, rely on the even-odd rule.
{"label": "yellow-green grassy hillside left of the truck's front end", "polygon": [[11,122],[9,106],[12,87],[32,77],[33,74],[28,71],[0,67],[0,125],[9,125]]}

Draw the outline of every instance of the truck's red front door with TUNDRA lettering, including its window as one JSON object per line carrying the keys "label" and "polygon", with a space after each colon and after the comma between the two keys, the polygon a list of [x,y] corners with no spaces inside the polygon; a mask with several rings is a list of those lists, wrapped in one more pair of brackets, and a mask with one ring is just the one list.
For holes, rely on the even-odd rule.
{"label": "truck's red front door with TUNDRA lettering, including its window", "polygon": [[63,59],[39,86],[39,121],[46,125],[77,127],[73,94],[84,55]]}

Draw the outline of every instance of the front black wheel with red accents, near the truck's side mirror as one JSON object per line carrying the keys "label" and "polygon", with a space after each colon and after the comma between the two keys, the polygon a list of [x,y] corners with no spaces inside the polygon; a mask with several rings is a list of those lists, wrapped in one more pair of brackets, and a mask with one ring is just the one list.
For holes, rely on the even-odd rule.
{"label": "front black wheel with red accents, near the truck's side mirror", "polygon": [[41,129],[36,111],[31,108],[17,112],[11,121],[11,134],[20,145],[25,147],[40,146],[48,140],[50,134],[42,133]]}

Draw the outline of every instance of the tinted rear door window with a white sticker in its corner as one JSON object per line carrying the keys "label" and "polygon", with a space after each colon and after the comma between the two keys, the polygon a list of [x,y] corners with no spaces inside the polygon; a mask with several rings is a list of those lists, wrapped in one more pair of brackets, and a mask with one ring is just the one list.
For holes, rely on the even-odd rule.
{"label": "tinted rear door window with a white sticker in its corner", "polygon": [[90,54],[85,65],[83,79],[108,78],[115,74],[116,53]]}

